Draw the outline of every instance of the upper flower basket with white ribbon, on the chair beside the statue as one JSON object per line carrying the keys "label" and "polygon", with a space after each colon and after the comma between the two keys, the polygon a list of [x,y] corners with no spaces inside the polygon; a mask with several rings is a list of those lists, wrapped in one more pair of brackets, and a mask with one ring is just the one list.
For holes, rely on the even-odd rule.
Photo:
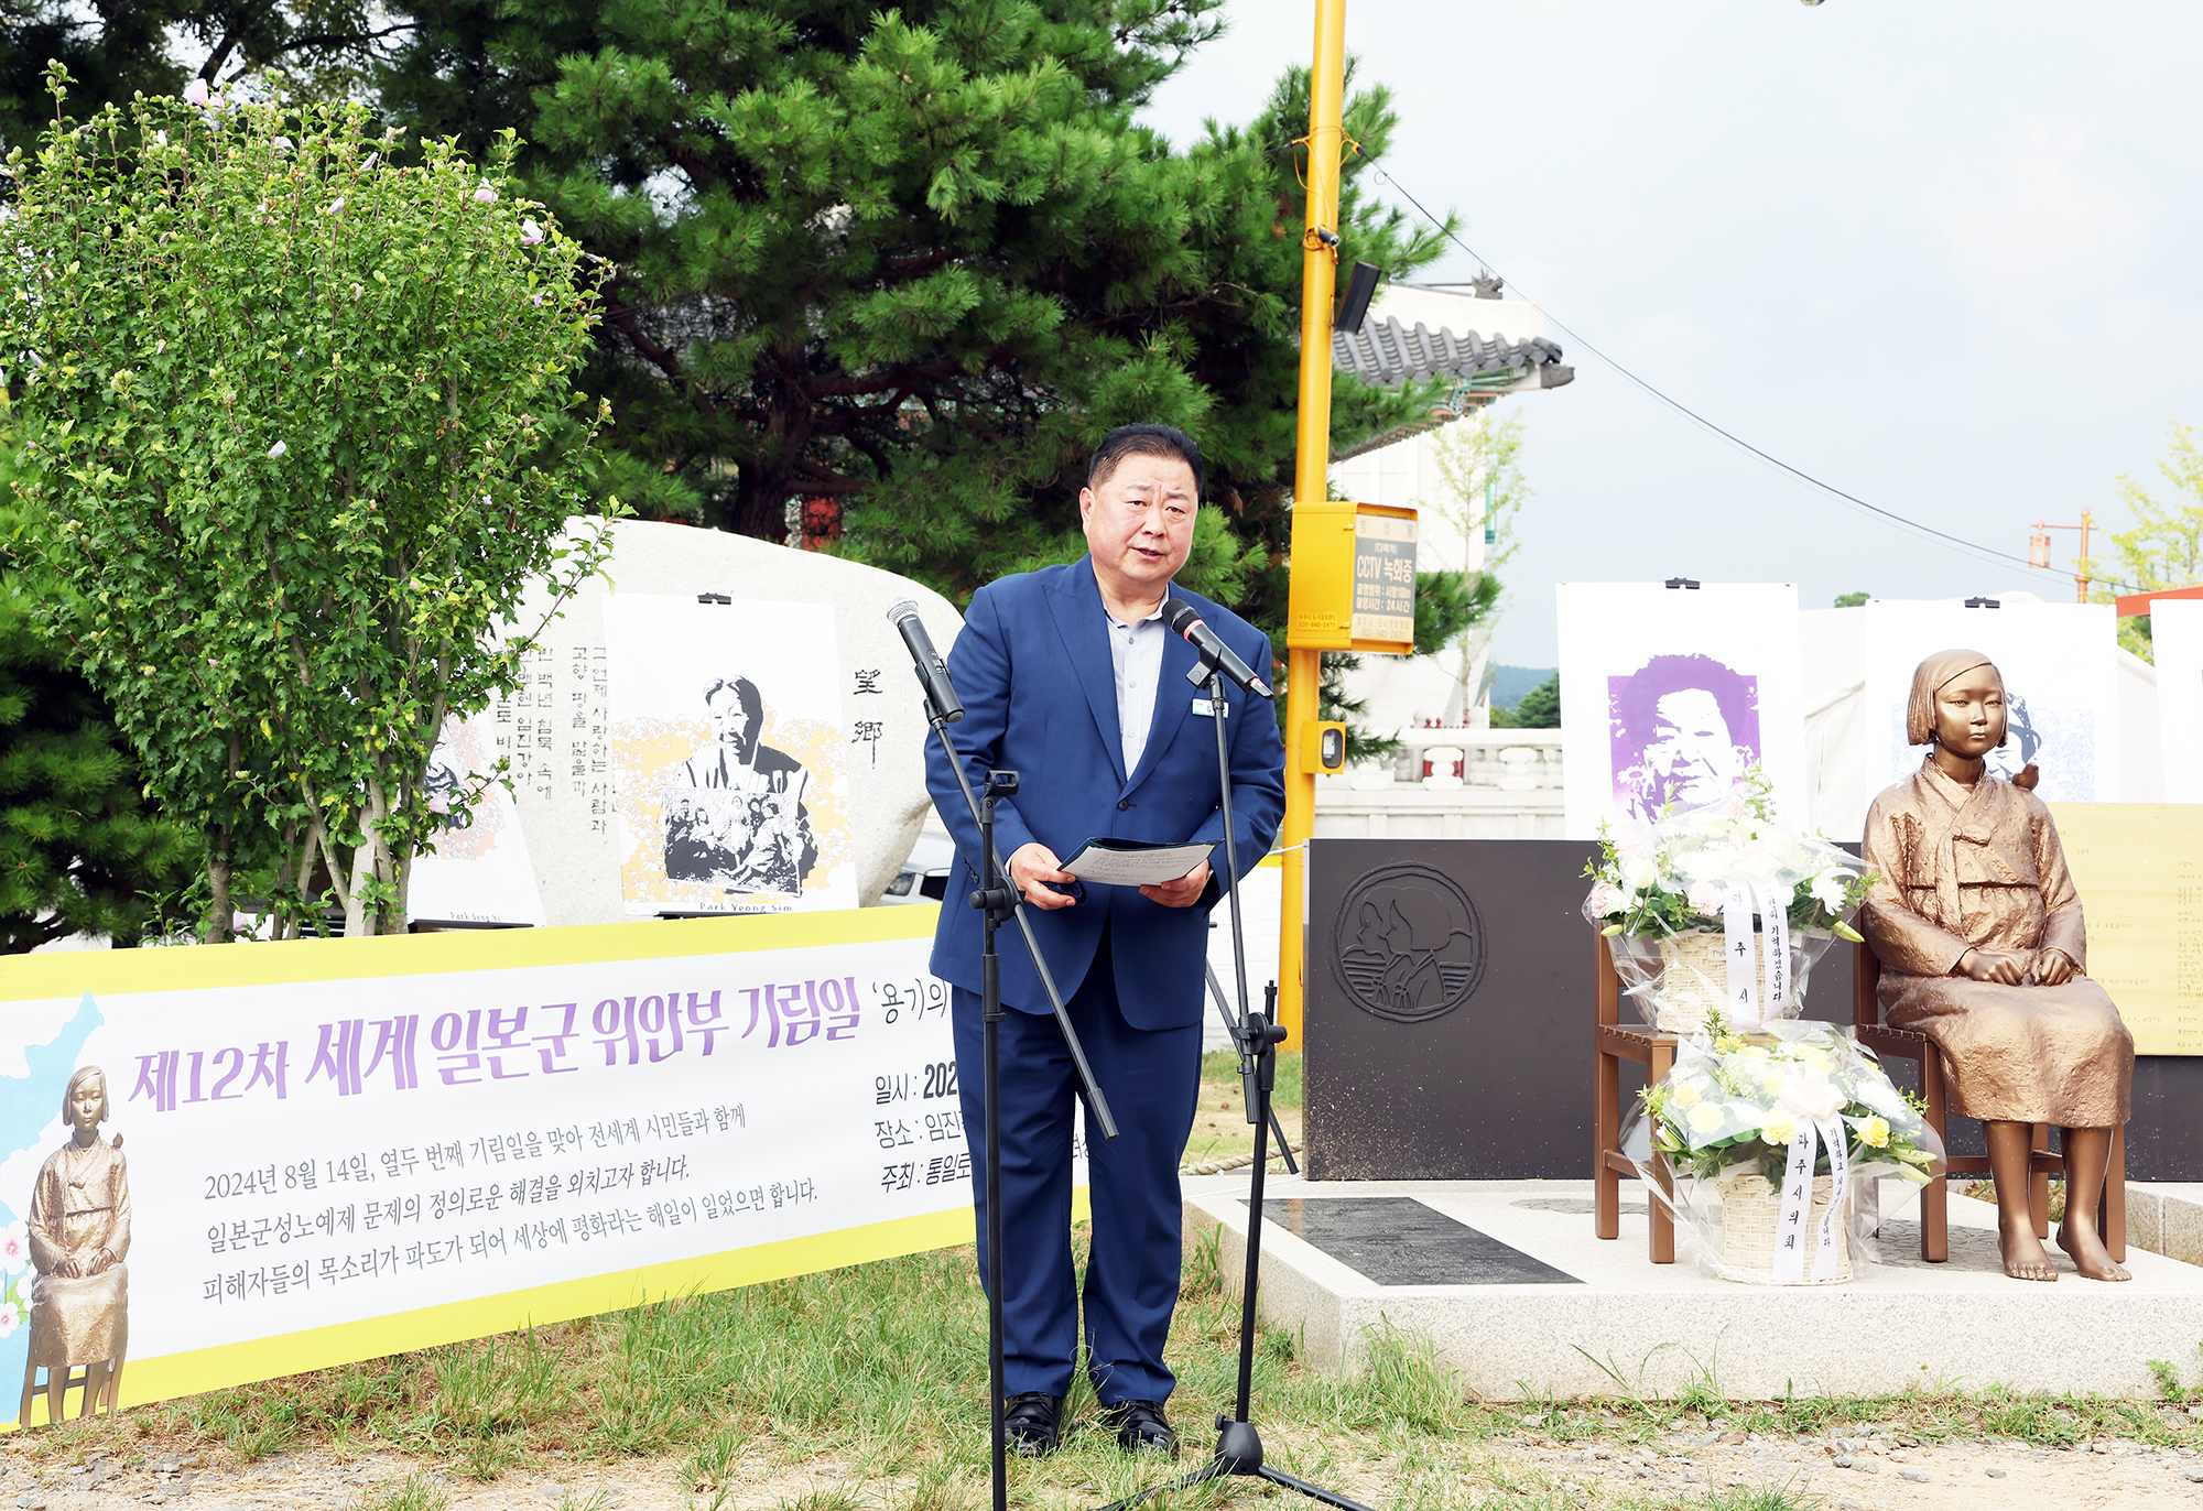
{"label": "upper flower basket with white ribbon, on the chair beside the statue", "polygon": [[1584,916],[1613,941],[1615,969],[1659,1029],[1795,1018],[1813,960],[1835,938],[1859,938],[1844,914],[1873,872],[1776,824],[1771,793],[1751,767],[1721,802],[1599,830]]}

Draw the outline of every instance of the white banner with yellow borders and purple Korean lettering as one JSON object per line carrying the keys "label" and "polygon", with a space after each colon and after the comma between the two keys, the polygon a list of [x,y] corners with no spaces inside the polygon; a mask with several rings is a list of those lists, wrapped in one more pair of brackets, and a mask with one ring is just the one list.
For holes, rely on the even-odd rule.
{"label": "white banner with yellow borders and purple Korean lettering", "polygon": [[[934,916],[11,960],[0,1379],[40,1383],[20,1425],[46,1421],[86,1308],[137,1405],[969,1242]],[[73,1128],[93,1068],[106,1117]],[[40,1198],[86,1161],[97,1214]]]}

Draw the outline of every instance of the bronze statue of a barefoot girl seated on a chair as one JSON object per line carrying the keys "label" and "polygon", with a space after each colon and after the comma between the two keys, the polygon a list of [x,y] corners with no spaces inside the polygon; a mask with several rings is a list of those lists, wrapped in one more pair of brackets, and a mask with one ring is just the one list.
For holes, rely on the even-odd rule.
{"label": "bronze statue of a barefoot girl seated on a chair", "polygon": [[2088,927],[2033,769],[2007,782],[2005,678],[1978,650],[1912,674],[1906,736],[1921,769],[1875,797],[1859,921],[1881,960],[1881,1013],[1943,1053],[1954,1112],[1983,1123],[1998,1247],[2014,1280],[2058,1280],[2027,1209],[2036,1123],[2064,1130],[2058,1247],[2091,1280],[2126,1280],[2097,1231],[2113,1130],[2133,1106],[2135,1040],[2088,978]]}

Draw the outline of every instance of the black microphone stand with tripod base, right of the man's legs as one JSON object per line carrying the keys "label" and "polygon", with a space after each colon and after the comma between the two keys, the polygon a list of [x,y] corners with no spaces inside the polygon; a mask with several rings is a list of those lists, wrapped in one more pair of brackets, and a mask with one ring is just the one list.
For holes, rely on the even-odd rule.
{"label": "black microphone stand with tripod base, right of the man's legs", "polygon": [[[1278,1044],[1284,1040],[1284,1029],[1271,1022],[1278,1011],[1278,982],[1269,982],[1269,991],[1262,996],[1265,1011],[1256,1013],[1247,1004],[1247,934],[1240,925],[1238,910],[1240,870],[1238,841],[1231,828],[1231,747],[1225,740],[1225,678],[1223,672],[1216,670],[1216,659],[1203,654],[1201,663],[1185,674],[1185,681],[1196,687],[1207,683],[1209,716],[1216,725],[1216,782],[1225,815],[1225,892],[1231,896],[1231,965],[1238,974],[1240,998],[1240,1015],[1238,1022],[1231,1024],[1231,1037],[1238,1040],[1240,1084],[1247,1088],[1247,1121],[1254,1123],[1254,1185],[1247,1194],[1247,1273],[1240,1282],[1238,1403],[1231,1416],[1216,1416],[1216,1456],[1209,1463],[1201,1465],[1192,1474],[1179,1476],[1176,1480],[1150,1485],[1137,1496],[1113,1500],[1102,1507],[1102,1511],[1126,1511],[1126,1507],[1137,1507],[1148,1496],[1161,1496],[1190,1485],[1205,1485],[1207,1480],[1220,1480],[1227,1474],[1245,1474],[1258,1480],[1269,1480],[1271,1485],[1300,1491],[1302,1496],[1320,1500],[1326,1507],[1337,1507],[1339,1511],[1372,1511],[1372,1507],[1366,1507],[1359,1500],[1348,1500],[1346,1496],[1328,1491],[1322,1485],[1311,1485],[1309,1480],[1265,1465],[1262,1434],[1256,1432],[1254,1421],[1249,1421],[1249,1405],[1254,1396],[1256,1291],[1262,1275],[1262,1174],[1265,1165],[1269,1165],[1269,1126],[1273,1117],[1269,1093],[1278,1079]],[[1282,1134],[1278,1141],[1284,1143]]]}

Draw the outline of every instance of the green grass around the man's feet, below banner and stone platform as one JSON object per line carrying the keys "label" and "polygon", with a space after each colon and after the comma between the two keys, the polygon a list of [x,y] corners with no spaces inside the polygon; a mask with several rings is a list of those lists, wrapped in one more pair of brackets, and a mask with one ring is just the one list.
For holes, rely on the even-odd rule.
{"label": "green grass around the man's feet, below banner and stone platform", "polygon": [[[1201,1244],[1187,1262],[1170,1344],[1179,1370],[1174,1418],[1196,1458],[1212,1443],[1209,1416],[1231,1401],[1236,1326],[1238,1304],[1218,1284],[1216,1247]],[[1300,1341],[1278,1328],[1258,1339],[1256,1421],[1269,1458],[1388,1511],[1820,1504],[1784,1487],[1694,1487],[1692,1498],[1676,1500],[1672,1491],[1646,1487],[1632,1498],[1597,1482],[1588,1500],[1571,1500],[1566,1467],[1524,1465],[1498,1452],[1502,1441],[1652,1443],[1716,1421],[1765,1436],[1848,1430],[1930,1445],[2128,1438],[2203,1447],[2203,1421],[2172,1399],[2196,1394],[2188,1379],[2194,1370],[2183,1377],[2170,1363],[2161,1403],[1928,1388],[1729,1401],[1712,1361],[1679,1399],[1635,1392],[1630,1374],[1646,1366],[1635,1361],[1608,1366],[1615,1388],[1599,1399],[1480,1403],[1419,1335],[1372,1335],[1350,1379],[1306,1368],[1300,1352]],[[452,1498],[445,1476],[493,1480],[516,1467],[617,1467],[634,1458],[679,1465],[701,1511],[736,1498],[756,1504],[756,1487],[800,1467],[833,1467],[844,1478],[831,1491],[791,1491],[786,1511],[983,1511],[985,1396],[985,1304],[969,1249],[956,1249],[220,1390],[115,1423],[24,1434],[9,1447],[42,1460],[93,1447],[148,1452],[145,1438],[161,1438],[165,1452],[225,1447],[238,1458],[297,1447],[337,1456],[397,1449],[421,1467],[366,1493],[352,1511],[443,1511]],[[1090,1416],[1082,1381],[1068,1421]],[[1055,1458],[1013,1469],[1020,1507],[1099,1504],[1163,1474],[1161,1465],[1128,1460],[1108,1432],[1090,1425],[1075,1425]],[[1223,1504],[1247,1493],[1223,1485],[1174,1504]],[[601,1511],[575,1496],[557,1511]]]}

